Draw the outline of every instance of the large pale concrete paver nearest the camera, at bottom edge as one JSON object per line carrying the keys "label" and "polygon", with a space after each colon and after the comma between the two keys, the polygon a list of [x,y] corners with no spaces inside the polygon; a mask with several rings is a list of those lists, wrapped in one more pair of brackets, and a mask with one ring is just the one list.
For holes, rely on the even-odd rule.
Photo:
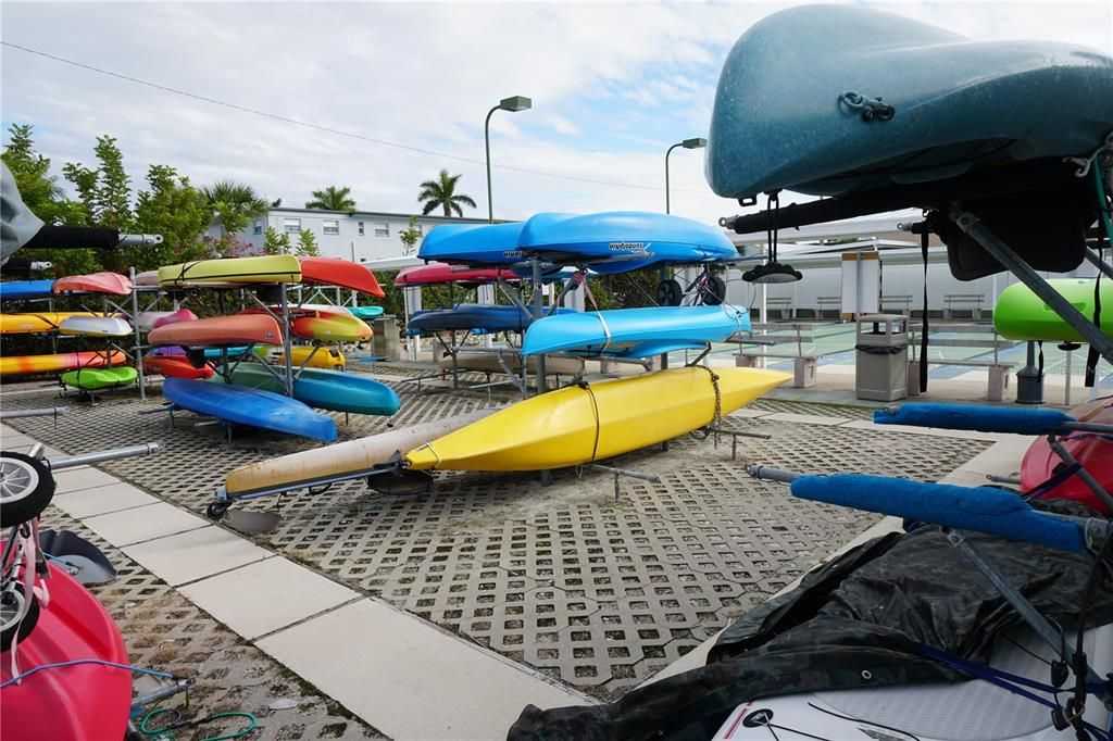
{"label": "large pale concrete paver nearest the camera, at bottom edge", "polygon": [[372,600],[257,645],[397,739],[504,738],[528,703],[589,702]]}

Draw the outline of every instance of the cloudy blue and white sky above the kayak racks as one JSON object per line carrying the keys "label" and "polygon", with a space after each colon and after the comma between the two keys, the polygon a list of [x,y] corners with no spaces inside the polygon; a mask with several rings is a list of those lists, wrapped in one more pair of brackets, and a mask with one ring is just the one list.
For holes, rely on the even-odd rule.
{"label": "cloudy blue and white sky above the kayak racks", "polygon": [[[196,97],[3,46],[0,119],[4,141],[11,124],[32,124],[59,176],[110,135],[137,188],[162,164],[285,206],[346,185],[361,209],[417,213],[418,184],[446,168],[479,205],[465,215],[483,218],[483,119],[522,95],[531,110],[491,122],[496,218],[662,211],[664,151],[707,136],[731,46],[789,4],[4,0],[6,45]],[[1113,55],[1109,0],[856,4],[978,40]],[[673,151],[672,213],[713,223],[740,209],[711,191],[702,156]]]}

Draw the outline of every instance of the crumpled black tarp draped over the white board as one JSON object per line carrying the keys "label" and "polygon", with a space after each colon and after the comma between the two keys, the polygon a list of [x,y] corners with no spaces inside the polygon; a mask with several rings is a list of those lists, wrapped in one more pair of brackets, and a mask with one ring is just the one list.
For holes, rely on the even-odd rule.
{"label": "crumpled black tarp draped over the white board", "polygon": [[[1092,514],[1074,503],[1038,506]],[[1042,614],[1067,629],[1076,624],[1092,555],[973,533],[968,540]],[[1111,586],[1106,569],[1087,626],[1113,622]],[[984,661],[994,636],[1021,622],[939,528],[894,533],[817,569],[796,590],[742,616],[720,636],[706,666],[611,704],[544,711],[528,705],[509,738],[703,741],[739,703],[758,696],[969,679],[920,656],[915,644]]]}

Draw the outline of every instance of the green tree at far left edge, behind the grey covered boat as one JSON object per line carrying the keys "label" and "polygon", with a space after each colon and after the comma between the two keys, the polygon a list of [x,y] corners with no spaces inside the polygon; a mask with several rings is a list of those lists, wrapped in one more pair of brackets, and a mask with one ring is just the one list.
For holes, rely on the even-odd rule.
{"label": "green tree at far left edge, behind the grey covered boat", "polygon": [[[0,159],[11,170],[23,205],[45,224],[85,225],[88,219],[85,207],[66,197],[58,178],[50,175],[50,159],[35,150],[33,127],[12,124],[8,134],[8,144]],[[91,249],[31,249],[21,256],[53,263],[56,277],[101,268],[98,253]]]}

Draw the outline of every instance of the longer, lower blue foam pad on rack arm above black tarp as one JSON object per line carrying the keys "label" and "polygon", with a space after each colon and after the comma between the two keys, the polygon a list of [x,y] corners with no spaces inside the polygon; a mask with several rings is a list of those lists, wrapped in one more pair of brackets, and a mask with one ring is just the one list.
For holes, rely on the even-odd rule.
{"label": "longer, lower blue foam pad on rack arm above black tarp", "polygon": [[974,530],[1063,551],[1084,551],[1082,530],[1033,510],[999,488],[924,484],[904,478],[836,474],[801,476],[792,494],[804,500]]}

